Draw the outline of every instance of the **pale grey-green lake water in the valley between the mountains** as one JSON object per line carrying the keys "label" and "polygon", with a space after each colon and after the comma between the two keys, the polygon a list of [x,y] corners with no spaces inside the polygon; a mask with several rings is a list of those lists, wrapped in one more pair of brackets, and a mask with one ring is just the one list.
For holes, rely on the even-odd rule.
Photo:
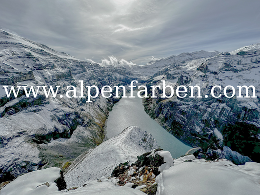
{"label": "pale grey-green lake water in the valley between the mountains", "polygon": [[192,147],[169,134],[154,119],[149,117],[144,111],[142,99],[137,97],[136,91],[134,96],[136,98],[121,98],[114,105],[107,120],[106,136],[111,138],[131,125],[138,126],[152,134],[160,147],[164,151],[169,151],[173,158],[185,155]]}

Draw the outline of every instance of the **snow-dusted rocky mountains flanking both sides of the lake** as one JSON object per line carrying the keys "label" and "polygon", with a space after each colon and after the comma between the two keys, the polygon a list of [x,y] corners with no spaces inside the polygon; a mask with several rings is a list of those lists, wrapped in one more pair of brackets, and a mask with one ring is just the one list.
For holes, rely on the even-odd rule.
{"label": "snow-dusted rocky mountains flanking both sides of the lake", "polygon": [[[203,87],[203,96],[211,86],[233,84],[234,80],[240,84],[258,84],[256,87],[260,89],[257,77],[259,55],[260,43],[233,52],[182,53],[156,60],[147,66],[133,66],[132,69],[101,67],[97,63],[79,60],[40,43],[0,31],[0,88],[2,85],[18,84],[60,85],[62,94],[68,85],[75,86],[79,92],[78,80],[101,88],[104,85],[127,86],[132,80],[139,79],[141,84],[149,88],[150,85],[160,85],[160,80],[164,79],[166,84],[175,89],[180,85],[200,85]],[[156,92],[160,94],[160,91]],[[22,91],[19,98],[6,98],[4,91],[0,90],[2,181],[42,167],[63,167],[65,163],[71,163],[80,154],[102,143],[108,113],[119,101],[119,98],[99,96],[92,103],[86,103],[86,98],[45,98],[40,93],[37,99],[25,98]],[[257,95],[260,95],[259,90]],[[254,135],[252,143],[257,144],[260,127],[258,101],[258,98],[181,100],[174,96],[171,99],[145,98],[143,105],[145,111],[169,133],[194,146],[205,144],[206,147],[202,147],[198,156],[229,156],[228,159],[240,164],[248,161],[248,157],[236,157],[230,151],[225,155],[223,146],[244,156],[250,153],[241,152],[237,143],[230,143],[229,139],[235,133],[242,135],[242,130],[249,128]],[[225,126],[226,123],[231,126]],[[232,125],[240,127],[241,131],[235,132]],[[215,129],[223,136],[223,140],[213,133],[217,132]],[[253,150],[251,147],[249,151]]]}

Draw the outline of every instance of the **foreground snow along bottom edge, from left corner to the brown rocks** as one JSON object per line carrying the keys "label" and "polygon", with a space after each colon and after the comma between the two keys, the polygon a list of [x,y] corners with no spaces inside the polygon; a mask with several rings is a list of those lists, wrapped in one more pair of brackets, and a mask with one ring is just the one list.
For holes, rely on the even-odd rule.
{"label": "foreground snow along bottom edge, from left corner to the brown rocks", "polygon": [[34,171],[19,176],[7,184],[1,190],[1,195],[145,195],[139,190],[115,186],[115,184],[109,181],[100,183],[92,182],[77,190],[69,190],[61,193],[54,182],[59,177],[59,168]]}

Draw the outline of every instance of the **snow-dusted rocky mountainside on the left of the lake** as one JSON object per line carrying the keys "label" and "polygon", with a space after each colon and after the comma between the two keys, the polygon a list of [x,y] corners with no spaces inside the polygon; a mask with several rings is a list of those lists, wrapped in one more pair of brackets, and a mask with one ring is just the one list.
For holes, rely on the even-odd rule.
{"label": "snow-dusted rocky mountainside on the left of the lake", "polygon": [[[41,166],[62,167],[104,138],[108,111],[119,99],[60,98],[73,85],[126,85],[125,68],[100,67],[57,52],[40,43],[0,30],[0,177],[10,180]],[[60,86],[56,98],[7,98],[2,85]],[[27,89],[28,89],[27,88]],[[54,88],[55,89],[55,88]],[[47,88],[48,90],[48,88]],[[56,90],[56,89],[55,89]],[[84,93],[87,89],[84,87]],[[113,97],[113,96],[112,96]]]}

